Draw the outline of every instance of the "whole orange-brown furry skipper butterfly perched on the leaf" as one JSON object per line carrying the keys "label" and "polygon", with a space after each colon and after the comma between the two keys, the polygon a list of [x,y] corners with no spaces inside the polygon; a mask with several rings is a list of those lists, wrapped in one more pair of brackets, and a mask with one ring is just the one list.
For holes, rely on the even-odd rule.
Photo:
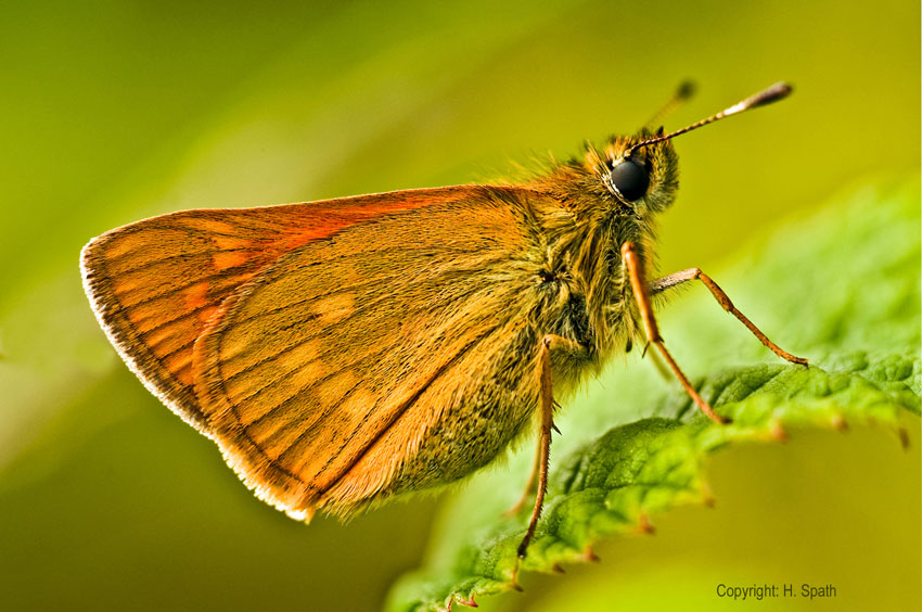
{"label": "whole orange-brown furry skipper butterfly perched on the leaf", "polygon": [[[240,209],[111,230],[84,286],[128,367],[294,519],[348,515],[486,466],[537,423],[526,554],[547,488],[556,397],[645,336],[663,344],[654,224],[678,189],[671,139],[779,100],[777,84],[664,135],[587,145],[517,184],[466,184]],[[534,494],[530,492],[534,489]]]}

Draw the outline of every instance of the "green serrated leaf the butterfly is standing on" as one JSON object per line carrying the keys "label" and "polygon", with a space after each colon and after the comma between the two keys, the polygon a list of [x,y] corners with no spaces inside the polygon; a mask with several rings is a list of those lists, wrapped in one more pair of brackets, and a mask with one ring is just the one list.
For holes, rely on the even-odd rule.
{"label": "green serrated leaf the butterfly is standing on", "polygon": [[[703,289],[663,308],[670,350],[732,423],[702,417],[654,368],[615,364],[556,419],[563,433],[552,446],[545,511],[521,570],[586,561],[602,536],[642,531],[650,515],[708,501],[707,456],[728,444],[805,428],[901,432],[907,413],[919,415],[922,391],[919,229],[919,178],[880,181],[755,242],[730,269],[707,270],[809,368],[777,359]],[[478,474],[448,500],[424,566],[394,587],[389,610],[445,610],[512,588],[528,511],[502,511],[525,484],[528,442],[508,467]]]}

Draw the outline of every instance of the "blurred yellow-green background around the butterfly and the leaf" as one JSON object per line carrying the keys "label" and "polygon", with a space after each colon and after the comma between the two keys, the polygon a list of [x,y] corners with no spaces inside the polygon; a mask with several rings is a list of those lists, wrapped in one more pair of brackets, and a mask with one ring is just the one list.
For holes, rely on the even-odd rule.
{"label": "blurred yellow-green background around the butterfly and the leaf", "polygon": [[[632,131],[688,77],[700,94],[669,127],[776,80],[796,90],[677,141],[665,271],[717,267],[842,187],[920,162],[913,1],[59,1],[0,15],[4,610],[375,609],[418,563],[437,503],[305,527],[251,496],[97,327],[77,265],[93,235],[180,208],[509,176]],[[716,510],[663,517],[655,538],[612,541],[603,563],[532,577],[503,604],[694,609],[726,576],[834,582],[827,609],[911,609],[911,437],[908,454],[869,431],[721,455]]]}

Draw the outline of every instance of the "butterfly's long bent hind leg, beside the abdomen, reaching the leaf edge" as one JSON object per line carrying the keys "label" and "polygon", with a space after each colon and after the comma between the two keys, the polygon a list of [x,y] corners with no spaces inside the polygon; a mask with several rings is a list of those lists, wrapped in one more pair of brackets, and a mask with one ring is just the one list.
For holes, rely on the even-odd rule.
{"label": "butterfly's long bent hind leg, beside the abdomen, reaching the leaf edge", "polygon": [[[538,438],[538,455],[535,461],[535,474],[538,479],[537,493],[535,494],[535,507],[532,510],[532,518],[528,521],[528,528],[525,532],[525,537],[518,545],[518,562],[525,558],[528,550],[528,543],[535,536],[535,530],[538,526],[538,519],[541,517],[541,509],[545,505],[545,494],[548,492],[548,466],[551,456],[551,430],[554,428],[554,395],[551,384],[551,349],[563,348],[569,350],[582,350],[582,346],[566,337],[548,334],[541,339],[538,347],[538,380],[539,380],[539,409],[540,409],[540,437]],[[529,481],[529,488],[532,482]],[[528,492],[526,490],[526,496]],[[518,563],[516,562],[515,574],[518,572]],[[513,584],[515,577],[513,575]]]}

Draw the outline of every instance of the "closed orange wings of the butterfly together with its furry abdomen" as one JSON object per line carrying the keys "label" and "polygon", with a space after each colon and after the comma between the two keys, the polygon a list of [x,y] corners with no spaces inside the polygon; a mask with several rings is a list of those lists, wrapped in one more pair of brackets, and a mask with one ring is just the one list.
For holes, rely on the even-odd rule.
{"label": "closed orange wings of the butterfly together with its furry abdomen", "polygon": [[85,284],[131,369],[260,498],[349,513],[465,475],[527,422],[537,197],[177,213],[92,241]]}

